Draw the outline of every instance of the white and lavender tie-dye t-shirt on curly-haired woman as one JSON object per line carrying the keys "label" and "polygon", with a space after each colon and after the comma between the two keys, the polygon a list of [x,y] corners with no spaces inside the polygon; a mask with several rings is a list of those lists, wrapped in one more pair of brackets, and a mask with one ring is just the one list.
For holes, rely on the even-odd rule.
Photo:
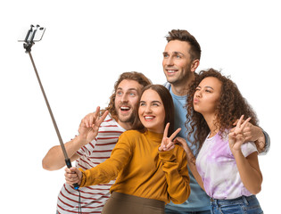
{"label": "white and lavender tie-dye t-shirt on curly-haired woman", "polygon": [[[214,199],[235,199],[251,195],[241,181],[236,160],[229,148],[228,135],[208,137],[196,159],[196,168],[202,177],[206,193]],[[247,157],[256,152],[257,147],[249,142],[242,144],[241,151]]]}

